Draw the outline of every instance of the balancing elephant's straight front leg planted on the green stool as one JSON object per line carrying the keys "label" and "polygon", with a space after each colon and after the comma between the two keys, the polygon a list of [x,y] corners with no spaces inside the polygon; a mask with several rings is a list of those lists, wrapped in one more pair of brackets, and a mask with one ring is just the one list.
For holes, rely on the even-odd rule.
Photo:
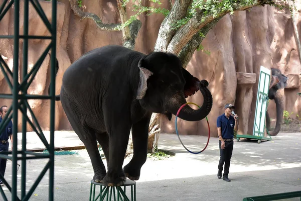
{"label": "balancing elephant's straight front leg planted on the green stool", "polygon": [[109,129],[109,160],[108,171],[102,182],[108,186],[123,184],[124,173],[122,164],[128,144],[130,124],[114,124]]}

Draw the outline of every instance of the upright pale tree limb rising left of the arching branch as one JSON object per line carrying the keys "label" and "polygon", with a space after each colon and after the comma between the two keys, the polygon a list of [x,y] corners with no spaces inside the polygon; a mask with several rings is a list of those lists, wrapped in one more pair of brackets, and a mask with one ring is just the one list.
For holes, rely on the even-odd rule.
{"label": "upright pale tree limb rising left of the arching branch", "polygon": [[176,30],[172,28],[172,25],[175,24],[178,20],[181,20],[185,17],[187,9],[191,4],[192,0],[176,0],[172,10],[168,16],[163,20],[158,38],[155,44],[155,51],[166,51],[167,45],[174,36]]}

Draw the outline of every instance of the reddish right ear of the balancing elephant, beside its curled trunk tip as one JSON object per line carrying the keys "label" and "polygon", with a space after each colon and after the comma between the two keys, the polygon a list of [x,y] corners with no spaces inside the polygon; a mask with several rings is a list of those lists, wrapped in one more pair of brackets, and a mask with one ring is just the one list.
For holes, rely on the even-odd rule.
{"label": "reddish right ear of the balancing elephant, beside its curled trunk tip", "polygon": [[185,68],[182,68],[183,76],[186,80],[184,86],[185,97],[195,94],[200,89],[200,80],[190,74]]}

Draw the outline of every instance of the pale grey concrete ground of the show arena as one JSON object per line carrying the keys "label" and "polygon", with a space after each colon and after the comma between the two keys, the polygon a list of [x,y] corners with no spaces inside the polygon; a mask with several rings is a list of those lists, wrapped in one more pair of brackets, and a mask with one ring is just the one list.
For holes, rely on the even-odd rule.
{"label": "pale grey concrete ground of the show arena", "polygon": [[[46,138],[48,133],[45,132]],[[21,134],[20,134],[21,136]],[[19,145],[21,144],[19,138]],[[182,142],[192,151],[202,150],[204,136],[182,136]],[[28,133],[28,149],[45,146],[34,133]],[[240,140],[234,142],[229,178],[217,178],[219,160],[218,139],[211,138],[201,154],[191,154],[181,145],[177,135],[161,134],[159,149],[176,153],[165,160],[147,159],[136,182],[136,200],[242,200],[244,197],[301,190],[301,133],[279,133],[272,141]],[[82,146],[76,134],[56,132],[55,146]],[[18,147],[20,149],[21,147]],[[55,156],[55,200],[88,200],[93,169],[85,149],[72,155]],[[129,159],[124,160],[124,165]],[[21,161],[19,162],[21,163]],[[29,190],[46,165],[46,159],[27,161]],[[105,160],[104,160],[105,163]],[[12,162],[8,161],[5,178],[11,183]],[[49,173],[43,177],[30,200],[48,200]],[[21,167],[18,171],[20,194]],[[8,200],[11,193],[3,187]],[[0,195],[0,200],[4,198]],[[291,198],[286,200],[300,200]]]}

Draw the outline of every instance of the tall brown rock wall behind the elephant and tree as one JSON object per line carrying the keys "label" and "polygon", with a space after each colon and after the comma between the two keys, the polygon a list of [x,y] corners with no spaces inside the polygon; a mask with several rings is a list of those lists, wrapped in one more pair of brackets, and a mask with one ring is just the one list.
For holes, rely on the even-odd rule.
{"label": "tall brown rock wall behind the elephant and tree", "polygon": [[[21,2],[20,31],[23,32],[23,1]],[[170,8],[170,1],[162,1],[162,7]],[[3,0],[0,0],[3,3]],[[46,16],[51,21],[51,3],[40,1]],[[145,3],[153,4],[153,3]],[[83,0],[84,11],[95,13],[104,23],[120,23],[115,1],[87,1]],[[56,93],[59,94],[64,71],[82,54],[97,47],[108,44],[121,45],[121,32],[100,31],[91,20],[80,20],[70,9],[68,0],[58,3],[58,34],[57,34],[57,59],[60,64],[56,81]],[[298,30],[301,30],[300,10],[295,18]],[[131,10],[131,5],[127,8]],[[9,13],[0,22],[0,35],[13,34],[14,11]],[[130,15],[131,13],[128,13]],[[153,14],[141,15],[139,20],[142,27],[136,39],[135,50],[149,53],[154,49],[156,38],[164,16]],[[300,33],[301,31],[299,31]],[[37,13],[30,7],[30,34],[49,35],[45,25]],[[301,37],[301,35],[300,35]],[[9,67],[13,68],[13,40],[0,39],[0,54],[3,55]],[[37,61],[49,42],[30,40],[29,67]],[[20,75],[22,75],[22,50],[23,42],[20,41]],[[296,95],[300,91],[299,73],[300,61],[292,27],[290,13],[279,11],[273,7],[258,6],[249,11],[235,12],[234,15],[224,16],[217,25],[209,31],[202,45],[210,51],[207,55],[203,51],[196,51],[187,69],[199,79],[209,81],[209,89],[213,95],[213,108],[208,115],[211,135],[217,136],[216,118],[224,112],[223,106],[233,103],[237,107],[235,112],[239,115],[239,133],[252,133],[255,100],[260,65],[267,68],[279,68],[282,73],[289,76],[289,84],[285,89],[284,110],[301,114],[301,100]],[[35,78],[28,92],[32,94],[47,94],[50,82],[49,55],[43,62],[38,76]],[[10,88],[2,73],[0,73],[0,93],[11,93]],[[20,79],[22,76],[20,76]],[[198,105],[202,104],[202,94],[198,92],[188,100]],[[2,99],[1,105],[10,106],[11,100]],[[30,100],[29,104],[38,118],[41,127],[49,129],[49,100]],[[193,106],[192,106],[193,107]],[[275,118],[275,105],[273,100],[269,103],[269,114]],[[60,102],[56,102],[56,130],[71,130],[71,126],[64,114]],[[20,116],[19,116],[20,117]],[[31,116],[30,116],[31,118]],[[174,120],[169,122],[162,119],[162,132],[175,133]],[[185,122],[178,120],[179,132],[182,135],[207,135],[207,123]],[[18,125],[21,129],[20,124]],[[31,127],[28,127],[32,131]]]}

